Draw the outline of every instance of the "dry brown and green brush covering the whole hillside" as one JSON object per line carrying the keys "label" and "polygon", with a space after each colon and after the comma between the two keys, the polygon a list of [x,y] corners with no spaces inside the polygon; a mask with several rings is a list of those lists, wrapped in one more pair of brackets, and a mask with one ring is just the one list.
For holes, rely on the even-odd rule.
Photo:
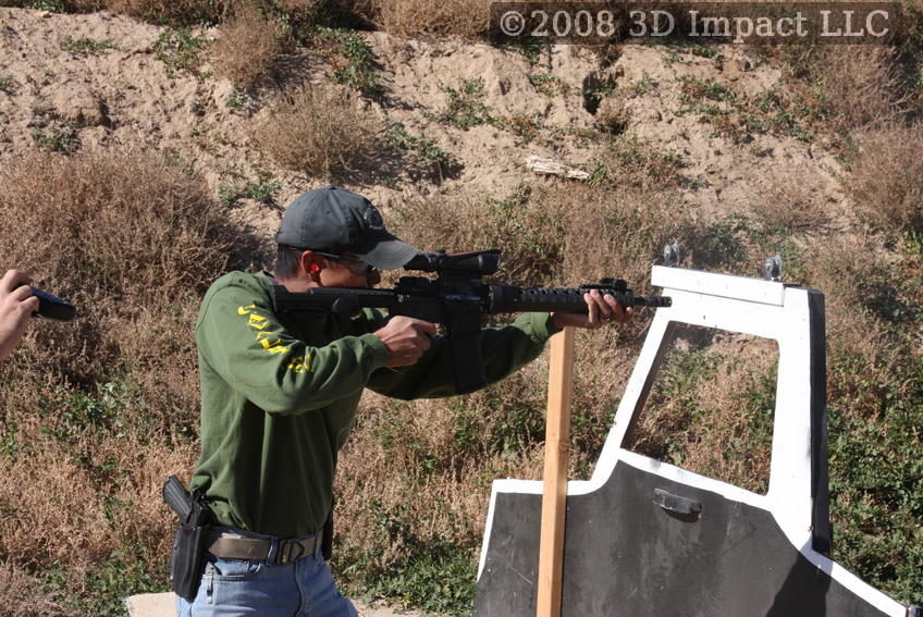
{"label": "dry brown and green brush covering the whole hillside", "polygon": [[[279,169],[368,181],[389,148],[419,156],[439,178],[455,162],[426,136],[356,111],[381,89],[368,46],[350,28],[477,37],[487,2],[0,4],[104,8],[169,24],[158,53],[171,71],[207,78],[199,71],[208,58],[236,86],[229,109],[276,110],[253,131]],[[194,33],[202,23],[220,24],[217,44]],[[782,255],[787,280],[826,295],[834,556],[923,605],[920,23],[895,50],[759,50],[784,75],[760,97],[704,79],[678,84],[677,112],[700,116],[736,147],[772,134],[834,152],[862,234],[835,232],[816,195],[768,170],[759,208],[699,217],[684,192],[705,181],[679,153],[624,137],[617,114],[607,129],[568,136],[605,152],[586,184],[526,183],[502,199],[419,199],[389,221],[421,247],[501,248],[503,279],[528,285],[578,284],[617,268],[645,289],[660,248],[674,240],[686,267],[746,275]],[[93,41],[81,49],[91,52]],[[323,57],[336,85],[290,87],[278,66],[298,49]],[[536,77],[550,96],[562,87],[552,77]],[[15,87],[0,75],[0,91]],[[590,94],[603,100],[656,87],[642,81],[620,95],[608,86]],[[544,131],[532,119],[497,118],[477,81],[444,91],[450,106],[432,118],[459,131],[490,123],[524,140]],[[0,170],[0,214],[40,230],[28,242],[0,235],[0,255],[82,313],[71,324],[37,323],[0,362],[0,607],[13,616],[121,615],[122,597],[165,589],[173,520],[159,491],[168,474],[187,473],[198,452],[198,301],[220,273],[267,266],[269,257],[263,238],[226,212],[239,197],[271,203],[271,172],[213,192],[169,152],[82,148],[73,133],[49,119],[35,127],[34,151]],[[649,319],[641,312],[625,328],[579,336],[571,478],[592,471]],[[727,351],[689,337],[665,363],[632,447],[761,491],[772,362],[744,367]],[[336,485],[334,565],[350,593],[470,613],[491,481],[541,474],[545,371],[539,360],[501,385],[439,402],[364,399]],[[694,412],[687,418],[680,407]]]}

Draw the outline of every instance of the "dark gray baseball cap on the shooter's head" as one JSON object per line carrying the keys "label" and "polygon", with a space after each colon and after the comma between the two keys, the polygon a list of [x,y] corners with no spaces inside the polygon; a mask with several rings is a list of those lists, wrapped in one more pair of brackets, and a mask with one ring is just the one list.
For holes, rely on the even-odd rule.
{"label": "dark gray baseball cap on the shooter's head", "polygon": [[382,270],[401,268],[420,252],[384,229],[371,201],[333,185],[308,190],[292,201],[275,242],[305,250],[348,249]]}

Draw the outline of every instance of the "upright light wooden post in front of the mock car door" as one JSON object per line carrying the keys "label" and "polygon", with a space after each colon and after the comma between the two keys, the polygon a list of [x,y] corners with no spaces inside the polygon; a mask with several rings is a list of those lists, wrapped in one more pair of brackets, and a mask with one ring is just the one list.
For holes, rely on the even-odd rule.
{"label": "upright light wooden post in front of the mock car door", "polygon": [[574,329],[565,328],[564,332],[551,338],[537,617],[559,617],[561,615],[573,359]]}

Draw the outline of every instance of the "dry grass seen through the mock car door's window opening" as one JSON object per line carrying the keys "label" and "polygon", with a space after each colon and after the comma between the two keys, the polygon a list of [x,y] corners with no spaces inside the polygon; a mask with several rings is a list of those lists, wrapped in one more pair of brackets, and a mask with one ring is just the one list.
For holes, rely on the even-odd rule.
{"label": "dry grass seen through the mock car door's window opening", "polygon": [[681,328],[628,447],[753,492],[768,488],[775,342]]}

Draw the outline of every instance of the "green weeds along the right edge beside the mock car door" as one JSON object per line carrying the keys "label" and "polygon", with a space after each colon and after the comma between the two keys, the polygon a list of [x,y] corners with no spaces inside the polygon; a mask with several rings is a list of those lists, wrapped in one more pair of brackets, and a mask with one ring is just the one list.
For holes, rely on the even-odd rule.
{"label": "green weeds along the right edge beside the mock car door", "polygon": [[[835,354],[830,360],[830,380],[839,390],[862,371],[851,367],[863,367],[870,358]],[[890,383],[876,383],[860,395],[864,402],[830,402],[830,518],[838,562],[886,593],[921,605],[923,361],[898,367],[900,374]],[[875,416],[856,412],[869,404],[877,409]]]}

